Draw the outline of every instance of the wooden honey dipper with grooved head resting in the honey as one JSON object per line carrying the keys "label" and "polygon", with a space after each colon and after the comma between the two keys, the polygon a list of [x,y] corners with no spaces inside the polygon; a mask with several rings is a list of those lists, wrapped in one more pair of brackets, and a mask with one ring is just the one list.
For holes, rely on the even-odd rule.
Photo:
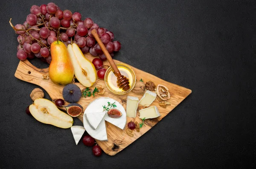
{"label": "wooden honey dipper with grooved head resting in the honey", "polygon": [[108,62],[110,63],[112,69],[114,70],[114,74],[117,77],[117,86],[120,89],[123,89],[124,91],[128,91],[130,89],[130,85],[129,85],[129,79],[127,77],[125,77],[124,75],[122,75],[119,71],[119,69],[116,66],[116,63],[114,62],[114,60],[112,59],[111,55],[108,53],[108,50],[106,49],[106,47],[104,46],[104,44],[102,43],[101,39],[99,38],[98,33],[96,32],[95,29],[92,30],[91,32],[94,36],[94,38],[97,40],[97,42],[99,43],[99,47],[102,49],[103,53],[105,54],[105,56],[107,57]]}

